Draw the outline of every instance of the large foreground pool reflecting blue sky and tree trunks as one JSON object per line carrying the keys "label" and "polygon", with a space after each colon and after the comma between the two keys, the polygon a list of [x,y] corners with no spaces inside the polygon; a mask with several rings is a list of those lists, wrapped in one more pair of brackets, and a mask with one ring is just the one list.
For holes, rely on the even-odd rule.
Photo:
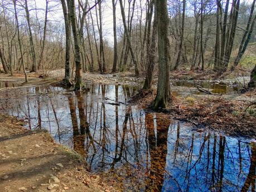
{"label": "large foreground pool reflecting blue sky and tree trunks", "polygon": [[137,90],[89,85],[88,93],[28,87],[0,93],[0,111],[47,129],[123,191],[255,191],[256,143],[149,114],[125,101]]}

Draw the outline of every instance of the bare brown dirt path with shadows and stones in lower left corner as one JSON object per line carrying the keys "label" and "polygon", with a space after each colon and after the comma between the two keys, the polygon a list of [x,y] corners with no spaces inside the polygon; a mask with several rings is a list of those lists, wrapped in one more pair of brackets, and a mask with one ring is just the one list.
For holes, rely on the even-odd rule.
{"label": "bare brown dirt path with shadows and stones in lower left corner", "polygon": [[0,115],[0,191],[114,191],[90,175],[75,152],[55,144],[44,130],[27,131]]}

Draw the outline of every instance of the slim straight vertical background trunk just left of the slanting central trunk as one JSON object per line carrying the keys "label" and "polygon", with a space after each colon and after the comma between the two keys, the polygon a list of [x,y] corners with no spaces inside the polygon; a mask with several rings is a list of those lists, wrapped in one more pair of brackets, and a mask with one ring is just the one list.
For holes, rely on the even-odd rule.
{"label": "slim straight vertical background trunk just left of the slanting central trunk", "polygon": [[116,0],[112,0],[112,7],[113,7],[113,32],[114,32],[114,61],[112,67],[112,73],[117,72],[117,21],[115,16],[115,9],[116,9]]}

